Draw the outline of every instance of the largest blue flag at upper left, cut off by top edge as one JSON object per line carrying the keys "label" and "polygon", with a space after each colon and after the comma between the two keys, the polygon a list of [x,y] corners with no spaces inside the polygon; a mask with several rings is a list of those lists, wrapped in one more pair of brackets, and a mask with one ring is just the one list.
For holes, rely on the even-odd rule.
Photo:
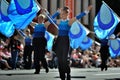
{"label": "largest blue flag at upper left, cut off by top edge", "polygon": [[11,0],[8,13],[16,29],[25,29],[38,12],[34,0]]}

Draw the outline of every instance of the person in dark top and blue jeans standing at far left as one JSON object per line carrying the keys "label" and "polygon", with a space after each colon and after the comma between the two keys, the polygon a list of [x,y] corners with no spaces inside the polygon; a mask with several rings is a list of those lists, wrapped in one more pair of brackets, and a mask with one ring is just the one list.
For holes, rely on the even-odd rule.
{"label": "person in dark top and blue jeans standing at far left", "polygon": [[20,52],[20,45],[21,42],[18,40],[18,35],[13,35],[9,43],[9,48],[11,50],[12,69],[16,69],[18,54]]}

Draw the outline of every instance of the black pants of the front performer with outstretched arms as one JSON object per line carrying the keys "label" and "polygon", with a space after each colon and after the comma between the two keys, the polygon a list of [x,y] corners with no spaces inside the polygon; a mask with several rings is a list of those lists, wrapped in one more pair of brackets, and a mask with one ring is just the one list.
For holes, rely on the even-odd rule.
{"label": "black pants of the front performer with outstretched arms", "polygon": [[68,36],[60,36],[57,38],[55,43],[55,53],[58,57],[58,69],[60,78],[65,79],[65,74],[70,74],[70,66],[68,64],[69,54],[69,38]]}

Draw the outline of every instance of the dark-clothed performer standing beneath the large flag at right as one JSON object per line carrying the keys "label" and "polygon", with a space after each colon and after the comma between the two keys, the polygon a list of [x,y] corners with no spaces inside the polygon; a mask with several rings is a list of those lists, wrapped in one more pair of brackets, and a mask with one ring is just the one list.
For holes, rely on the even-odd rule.
{"label": "dark-clothed performer standing beneath the large flag at right", "polygon": [[100,57],[101,57],[101,71],[104,69],[107,70],[107,60],[109,58],[109,46],[108,39],[101,40],[101,48],[100,48]]}

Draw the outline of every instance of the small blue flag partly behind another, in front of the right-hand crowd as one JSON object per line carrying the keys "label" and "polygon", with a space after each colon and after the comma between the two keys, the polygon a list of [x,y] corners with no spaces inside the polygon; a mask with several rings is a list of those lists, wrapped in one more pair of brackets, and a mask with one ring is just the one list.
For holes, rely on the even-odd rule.
{"label": "small blue flag partly behind another, in front of the right-hand crowd", "polygon": [[92,44],[93,44],[93,40],[86,36],[83,39],[83,41],[80,43],[80,49],[86,50],[86,49],[90,48],[92,46]]}

